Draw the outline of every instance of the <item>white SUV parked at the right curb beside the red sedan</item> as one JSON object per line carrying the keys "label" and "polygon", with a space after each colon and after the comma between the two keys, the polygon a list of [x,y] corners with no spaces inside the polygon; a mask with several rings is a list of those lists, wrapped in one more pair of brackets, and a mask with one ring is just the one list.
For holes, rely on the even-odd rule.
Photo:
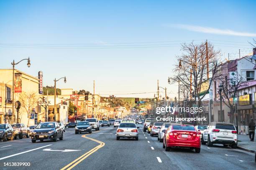
{"label": "white SUV parked at the right curb beside the red sedan", "polygon": [[213,144],[237,147],[237,131],[234,124],[224,122],[211,122],[202,134],[202,145],[211,147]]}

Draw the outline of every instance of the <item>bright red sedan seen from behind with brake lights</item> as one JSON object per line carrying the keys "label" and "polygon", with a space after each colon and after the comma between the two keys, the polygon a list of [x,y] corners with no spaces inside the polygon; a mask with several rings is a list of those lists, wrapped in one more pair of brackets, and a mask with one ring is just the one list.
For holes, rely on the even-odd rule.
{"label": "bright red sedan seen from behind with brake lights", "polygon": [[195,149],[200,152],[200,132],[191,124],[172,124],[164,133],[163,148],[169,151],[171,147]]}

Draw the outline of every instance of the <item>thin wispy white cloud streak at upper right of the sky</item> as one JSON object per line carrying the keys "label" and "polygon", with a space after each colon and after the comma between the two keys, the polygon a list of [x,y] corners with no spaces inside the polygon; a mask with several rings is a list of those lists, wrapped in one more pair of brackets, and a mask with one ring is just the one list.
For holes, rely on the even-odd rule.
{"label": "thin wispy white cloud streak at upper right of the sky", "polygon": [[237,32],[229,29],[218,29],[211,27],[201,27],[197,25],[184,25],[184,24],[172,24],[168,25],[169,27],[182,28],[185,30],[191,30],[200,33],[211,33],[211,34],[220,34],[228,36],[245,36],[245,37],[256,37],[256,33],[246,33],[246,32]]}

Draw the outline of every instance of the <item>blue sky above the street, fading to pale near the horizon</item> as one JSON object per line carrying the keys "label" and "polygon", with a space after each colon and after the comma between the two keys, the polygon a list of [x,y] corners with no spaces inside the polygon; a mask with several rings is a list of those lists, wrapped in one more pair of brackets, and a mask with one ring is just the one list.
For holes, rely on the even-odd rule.
{"label": "blue sky above the street, fading to pale near the horizon", "polygon": [[222,59],[228,53],[238,57],[239,48],[242,55],[251,52],[255,5],[253,0],[2,0],[0,68],[11,68],[13,59],[30,56],[30,68],[26,62],[16,68],[34,76],[43,71],[44,85],[67,76],[66,84],[58,82],[59,88],[93,91],[95,80],[97,94],[126,94],[156,91],[159,79],[174,97],[177,85],[169,85],[167,79],[181,53],[179,44],[208,39]]}

